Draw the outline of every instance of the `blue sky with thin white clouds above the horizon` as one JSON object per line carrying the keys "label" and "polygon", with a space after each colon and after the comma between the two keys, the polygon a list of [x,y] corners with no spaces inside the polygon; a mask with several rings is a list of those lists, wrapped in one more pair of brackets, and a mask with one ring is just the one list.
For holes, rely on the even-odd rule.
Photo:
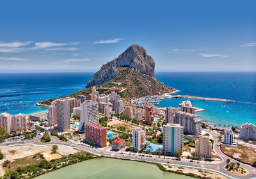
{"label": "blue sky with thin white clouds above the horizon", "polygon": [[0,1],[0,72],[97,72],[130,45],[157,72],[255,72],[256,1]]}

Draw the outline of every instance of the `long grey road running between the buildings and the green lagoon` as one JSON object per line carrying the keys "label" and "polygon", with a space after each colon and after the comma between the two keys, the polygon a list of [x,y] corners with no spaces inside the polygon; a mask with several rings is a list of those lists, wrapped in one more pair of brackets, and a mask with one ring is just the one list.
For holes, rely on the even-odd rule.
{"label": "long grey road running between the buildings and the green lagoon", "polygon": [[[211,132],[212,137],[216,139],[218,137],[214,132]],[[193,161],[190,162],[188,159],[182,159],[181,161],[175,160],[174,157],[164,157],[164,156],[158,156],[158,155],[145,155],[144,157],[141,156],[141,153],[131,153],[131,152],[113,152],[110,150],[110,148],[93,148],[92,146],[84,146],[81,145],[80,143],[76,143],[74,141],[67,141],[63,142],[58,139],[58,137],[52,137],[52,141],[50,143],[40,143],[40,139],[33,139],[29,141],[23,141],[20,143],[15,143],[15,144],[0,144],[1,147],[7,147],[7,146],[17,146],[17,145],[24,145],[24,144],[33,144],[36,146],[45,146],[45,145],[60,145],[60,146],[67,146],[71,147],[77,150],[82,150],[84,152],[89,152],[93,153],[94,155],[101,155],[104,157],[113,157],[117,159],[127,159],[127,160],[140,160],[144,162],[154,162],[154,163],[159,163],[159,164],[165,164],[165,165],[173,165],[173,166],[182,166],[182,167],[193,167],[196,169],[205,169],[208,171],[215,171],[217,173],[220,173],[221,175],[227,176],[228,178],[253,178],[256,177],[256,169],[248,166],[246,164],[242,164],[241,166],[244,167],[246,170],[249,171],[249,174],[246,176],[236,176],[232,175],[231,173],[228,173],[224,169],[226,166],[226,159],[230,159],[230,161],[236,162],[236,160],[231,159],[230,157],[227,157],[225,154],[223,154],[220,151],[220,147],[218,147],[218,143],[214,143],[214,150],[220,155],[222,161],[218,162],[205,162],[205,161]],[[150,157],[151,156],[151,157]]]}

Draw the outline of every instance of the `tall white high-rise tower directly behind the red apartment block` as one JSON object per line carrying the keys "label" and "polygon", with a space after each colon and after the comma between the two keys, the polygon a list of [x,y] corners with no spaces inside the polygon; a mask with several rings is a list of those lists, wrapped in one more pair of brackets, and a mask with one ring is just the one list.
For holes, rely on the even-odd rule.
{"label": "tall white high-rise tower directly behind the red apartment block", "polygon": [[86,100],[81,104],[79,132],[84,132],[84,123],[99,125],[99,111],[97,102]]}

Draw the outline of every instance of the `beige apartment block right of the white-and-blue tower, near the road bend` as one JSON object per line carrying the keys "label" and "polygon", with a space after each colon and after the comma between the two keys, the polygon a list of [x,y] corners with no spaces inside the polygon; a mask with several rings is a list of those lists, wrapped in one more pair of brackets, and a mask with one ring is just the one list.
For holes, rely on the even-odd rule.
{"label": "beige apartment block right of the white-and-blue tower, near the road bend", "polygon": [[199,136],[195,141],[195,156],[211,158],[212,157],[212,143],[207,136]]}

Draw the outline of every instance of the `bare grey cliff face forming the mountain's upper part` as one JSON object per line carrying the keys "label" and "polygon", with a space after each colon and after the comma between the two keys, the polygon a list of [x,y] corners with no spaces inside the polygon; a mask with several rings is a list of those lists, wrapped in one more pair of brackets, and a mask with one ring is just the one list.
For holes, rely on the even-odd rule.
{"label": "bare grey cliff face forming the mountain's upper part", "polygon": [[146,74],[150,77],[155,75],[155,62],[151,56],[140,45],[131,45],[125,52],[120,54],[118,58],[109,61],[103,65],[100,70],[93,75],[86,88],[103,84],[104,82],[114,79],[120,73],[118,67],[132,67],[138,70],[141,74]]}

